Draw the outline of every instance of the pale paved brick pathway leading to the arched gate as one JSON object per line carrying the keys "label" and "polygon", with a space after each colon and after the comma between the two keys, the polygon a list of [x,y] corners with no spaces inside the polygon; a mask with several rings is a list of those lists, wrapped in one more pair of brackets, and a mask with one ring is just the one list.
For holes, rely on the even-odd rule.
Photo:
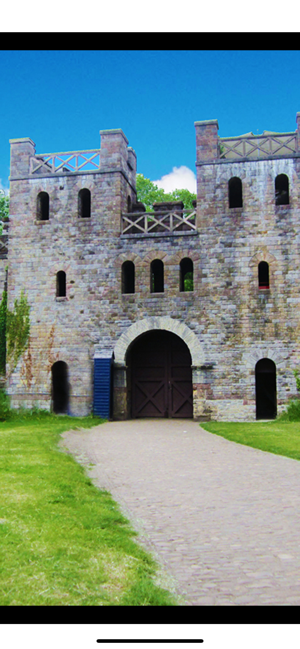
{"label": "pale paved brick pathway leading to the arched gate", "polygon": [[111,422],[63,446],[119,502],[188,605],[300,604],[300,462],[190,420]]}

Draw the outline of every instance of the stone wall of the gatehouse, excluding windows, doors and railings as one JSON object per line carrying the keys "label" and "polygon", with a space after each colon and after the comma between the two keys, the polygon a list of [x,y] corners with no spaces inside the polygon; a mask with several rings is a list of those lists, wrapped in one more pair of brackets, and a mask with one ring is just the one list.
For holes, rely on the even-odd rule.
{"label": "stone wall of the gatehouse, excluding windows, doors and railings", "polygon": [[[51,407],[51,367],[68,364],[70,409],[93,402],[94,355],[114,353],[114,415],[129,415],[126,354],[151,328],[186,340],[193,363],[194,417],[255,419],[255,365],[277,369],[278,410],[296,392],[299,348],[299,158],[224,161],[216,120],[196,123],[197,231],[122,236],[128,197],[136,202],[136,156],[120,129],[101,131],[95,172],[30,173],[35,145],[11,141],[9,304],[24,288],[31,306],[30,348],[9,377],[14,403]],[[289,205],[275,205],[275,178],[289,178]],[[229,208],[239,177],[242,208]],[[91,192],[91,218],[78,217],[78,192]],[[49,221],[36,218],[50,197]],[[194,264],[194,290],[180,291],[180,261]],[[164,292],[150,291],[150,264],[164,263]],[[122,294],[124,261],[135,264],[135,293]],[[270,288],[258,287],[267,261]],[[1,269],[0,269],[1,270]],[[64,270],[66,297],[56,296]],[[1,277],[0,277],[1,279]],[[194,358],[193,358],[194,356]]]}

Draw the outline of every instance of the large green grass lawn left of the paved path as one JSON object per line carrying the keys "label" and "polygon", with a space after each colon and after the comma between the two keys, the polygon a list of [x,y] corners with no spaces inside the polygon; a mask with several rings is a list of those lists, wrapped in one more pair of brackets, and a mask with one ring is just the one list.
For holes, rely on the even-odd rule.
{"label": "large green grass lawn left of the paved path", "polygon": [[110,494],[58,448],[63,431],[99,423],[0,422],[0,605],[176,605]]}

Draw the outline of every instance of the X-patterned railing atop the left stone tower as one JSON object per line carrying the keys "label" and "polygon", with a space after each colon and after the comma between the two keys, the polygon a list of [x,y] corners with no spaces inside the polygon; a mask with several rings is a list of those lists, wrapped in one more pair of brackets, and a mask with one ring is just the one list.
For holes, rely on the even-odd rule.
{"label": "X-patterned railing atop the left stone tower", "polygon": [[30,173],[36,175],[95,171],[100,167],[100,149],[41,153],[30,158]]}

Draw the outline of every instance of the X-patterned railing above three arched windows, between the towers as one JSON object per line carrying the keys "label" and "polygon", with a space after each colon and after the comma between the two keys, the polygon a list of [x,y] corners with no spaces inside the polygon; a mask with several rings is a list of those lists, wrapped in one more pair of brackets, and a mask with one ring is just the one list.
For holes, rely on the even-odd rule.
{"label": "X-patterned railing above three arched windows, between the towers", "polygon": [[122,214],[122,234],[196,231],[195,210]]}

